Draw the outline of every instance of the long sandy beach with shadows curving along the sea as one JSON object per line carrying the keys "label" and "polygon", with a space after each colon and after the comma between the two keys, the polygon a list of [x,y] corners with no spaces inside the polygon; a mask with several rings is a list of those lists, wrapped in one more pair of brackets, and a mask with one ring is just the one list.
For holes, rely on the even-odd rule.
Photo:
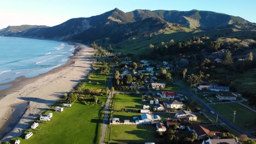
{"label": "long sandy beach with shadows curving along the sea", "polygon": [[[21,115],[14,129],[2,140],[8,141],[21,135],[22,131],[30,127],[37,117],[34,114],[48,109],[64,93],[71,91],[80,80],[84,79],[90,73],[91,64],[96,61],[94,53],[95,50],[91,47],[76,46],[75,55],[65,65],[36,77],[27,79],[20,77],[21,80],[16,82],[13,87],[1,92],[5,96],[0,100],[0,128],[15,112],[15,105],[23,104],[22,109],[26,110],[24,110],[24,115]],[[26,105],[28,101],[29,104]],[[24,103],[26,104],[24,105]]]}

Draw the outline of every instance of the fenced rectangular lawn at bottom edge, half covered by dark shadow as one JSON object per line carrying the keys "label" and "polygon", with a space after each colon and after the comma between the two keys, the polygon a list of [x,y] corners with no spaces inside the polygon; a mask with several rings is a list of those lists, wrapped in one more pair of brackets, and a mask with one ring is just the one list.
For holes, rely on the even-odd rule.
{"label": "fenced rectangular lawn at bottom edge, half covered by dark shadow", "polygon": [[155,133],[152,125],[112,125],[110,143],[155,142]]}

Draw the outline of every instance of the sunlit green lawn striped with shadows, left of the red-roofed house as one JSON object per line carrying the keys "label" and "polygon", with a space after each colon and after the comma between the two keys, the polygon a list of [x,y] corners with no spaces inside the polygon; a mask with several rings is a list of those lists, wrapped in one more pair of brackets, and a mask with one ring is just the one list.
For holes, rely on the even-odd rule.
{"label": "sunlit green lawn striped with shadows, left of the red-roofed house", "polygon": [[143,109],[141,103],[141,96],[136,94],[118,94],[114,98],[114,110],[130,109],[139,110]]}

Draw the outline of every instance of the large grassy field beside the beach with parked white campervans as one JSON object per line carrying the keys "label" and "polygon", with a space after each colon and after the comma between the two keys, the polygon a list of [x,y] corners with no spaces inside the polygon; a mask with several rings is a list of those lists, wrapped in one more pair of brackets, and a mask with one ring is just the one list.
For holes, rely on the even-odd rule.
{"label": "large grassy field beside the beach with parked white campervans", "polygon": [[53,112],[51,121],[40,123],[33,130],[34,135],[21,143],[96,143],[101,136],[103,114],[100,111],[100,105],[88,106],[79,102],[63,112],[49,111]]}

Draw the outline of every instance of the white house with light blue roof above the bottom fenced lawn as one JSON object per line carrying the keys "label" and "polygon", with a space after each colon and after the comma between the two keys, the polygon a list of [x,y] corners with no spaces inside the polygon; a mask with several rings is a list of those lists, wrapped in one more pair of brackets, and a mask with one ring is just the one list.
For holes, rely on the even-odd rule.
{"label": "white house with light blue roof above the bottom fenced lawn", "polygon": [[158,121],[161,118],[158,115],[149,115],[148,113],[143,113],[140,116],[137,116],[137,120],[135,121],[138,124],[151,124],[154,121]]}

